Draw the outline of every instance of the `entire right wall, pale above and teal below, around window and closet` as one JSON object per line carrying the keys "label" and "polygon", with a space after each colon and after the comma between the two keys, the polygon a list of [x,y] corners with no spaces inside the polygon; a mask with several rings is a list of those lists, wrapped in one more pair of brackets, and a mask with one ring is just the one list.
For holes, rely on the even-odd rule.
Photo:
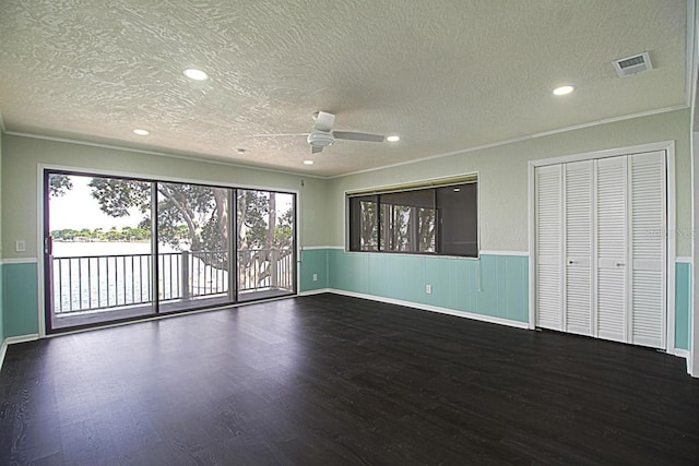
{"label": "entire right wall, pale above and teal below, around window and closet", "polygon": [[[526,322],[529,288],[521,271],[528,259],[519,253],[529,250],[529,162],[664,141],[675,142],[676,254],[689,256],[689,109],[668,111],[331,179],[329,287]],[[344,252],[347,191],[471,172],[478,174],[481,260]],[[690,282],[684,267],[678,272],[675,292],[684,297]],[[433,285],[431,295],[426,295],[426,284]],[[685,301],[680,300],[676,320],[682,345],[688,342],[687,318],[691,314]]]}

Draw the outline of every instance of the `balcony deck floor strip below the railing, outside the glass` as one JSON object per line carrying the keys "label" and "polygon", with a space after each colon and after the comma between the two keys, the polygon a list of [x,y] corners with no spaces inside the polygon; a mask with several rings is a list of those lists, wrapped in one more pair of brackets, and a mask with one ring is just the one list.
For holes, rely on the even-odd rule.
{"label": "balcony deck floor strip below the railing, outside the glass", "polygon": [[[241,291],[238,295],[238,302],[259,301],[263,299],[281,298],[294,295],[292,289],[269,288],[260,290]],[[216,308],[233,303],[228,295],[215,295],[198,299],[177,299],[159,303],[159,313],[192,311],[204,308]],[[62,315],[55,315],[51,323],[54,330],[68,330],[82,327],[85,325],[97,325],[102,323],[122,321],[126,319],[147,318],[156,315],[152,304],[139,304],[121,308],[103,309],[98,311],[72,312]]]}

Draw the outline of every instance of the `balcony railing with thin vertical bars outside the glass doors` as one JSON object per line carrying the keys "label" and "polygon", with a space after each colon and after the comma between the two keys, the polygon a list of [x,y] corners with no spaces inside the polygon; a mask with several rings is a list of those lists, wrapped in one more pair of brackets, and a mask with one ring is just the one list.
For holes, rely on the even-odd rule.
{"label": "balcony railing with thin vertical bars outside the glass doors", "polygon": [[[187,301],[228,294],[226,251],[157,254],[158,300]],[[238,251],[238,292],[294,289],[289,249]],[[51,256],[54,313],[108,310],[153,301],[152,254]]]}

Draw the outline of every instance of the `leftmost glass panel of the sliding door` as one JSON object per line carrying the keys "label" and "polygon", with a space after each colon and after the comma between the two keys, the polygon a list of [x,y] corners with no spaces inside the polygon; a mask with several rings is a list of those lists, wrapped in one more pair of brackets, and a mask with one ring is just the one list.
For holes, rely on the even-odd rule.
{"label": "leftmost glass panel of the sliding door", "polygon": [[151,315],[151,183],[49,174],[45,271],[51,328]]}

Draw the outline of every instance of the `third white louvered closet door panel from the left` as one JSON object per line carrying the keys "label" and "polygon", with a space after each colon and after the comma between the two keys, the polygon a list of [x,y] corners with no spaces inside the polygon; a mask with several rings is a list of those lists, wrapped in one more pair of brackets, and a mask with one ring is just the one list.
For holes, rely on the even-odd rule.
{"label": "third white louvered closet door panel from the left", "polygon": [[627,342],[627,157],[596,160],[595,336]]}

